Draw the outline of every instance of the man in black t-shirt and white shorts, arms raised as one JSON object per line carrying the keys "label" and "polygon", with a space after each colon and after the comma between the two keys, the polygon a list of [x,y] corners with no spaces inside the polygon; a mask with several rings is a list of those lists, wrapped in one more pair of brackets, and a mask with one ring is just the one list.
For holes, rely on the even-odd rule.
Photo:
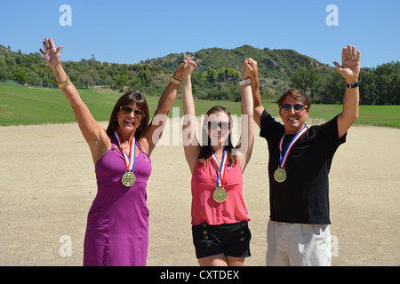
{"label": "man in black t-shirt and white shorts, arms raised", "polygon": [[331,265],[328,174],[333,154],[358,117],[360,51],[348,45],[342,65],[333,62],[346,78],[343,111],[309,128],[311,101],[300,90],[285,91],[277,101],[284,124],[268,114],[261,106],[257,62],[249,61],[254,120],[269,152],[267,265]]}

